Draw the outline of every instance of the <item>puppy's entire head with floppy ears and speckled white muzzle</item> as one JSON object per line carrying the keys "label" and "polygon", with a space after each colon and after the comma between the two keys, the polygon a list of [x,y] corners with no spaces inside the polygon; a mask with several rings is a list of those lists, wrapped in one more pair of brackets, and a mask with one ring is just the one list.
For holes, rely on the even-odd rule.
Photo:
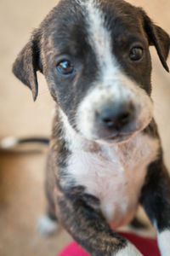
{"label": "puppy's entire head with floppy ears and speckled white muzzle", "polygon": [[63,0],[14,62],[37,97],[37,70],[70,125],[89,140],[119,143],[149,125],[149,46],[168,71],[170,38],[122,0]]}

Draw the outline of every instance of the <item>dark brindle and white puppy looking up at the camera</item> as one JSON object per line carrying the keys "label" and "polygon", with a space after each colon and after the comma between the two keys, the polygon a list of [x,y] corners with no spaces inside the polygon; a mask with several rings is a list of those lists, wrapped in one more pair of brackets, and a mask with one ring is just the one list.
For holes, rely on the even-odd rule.
{"label": "dark brindle and white puppy looking up at the camera", "polygon": [[150,45],[168,71],[170,38],[122,0],[61,0],[14,62],[37,98],[56,102],[47,162],[48,225],[59,221],[93,256],[139,256],[116,229],[138,205],[170,255],[170,179],[150,98]]}

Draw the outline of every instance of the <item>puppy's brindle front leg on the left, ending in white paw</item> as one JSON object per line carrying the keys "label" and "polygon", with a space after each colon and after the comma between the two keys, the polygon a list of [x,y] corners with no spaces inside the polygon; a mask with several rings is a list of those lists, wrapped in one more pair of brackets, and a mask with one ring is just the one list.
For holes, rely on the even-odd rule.
{"label": "puppy's brindle front leg on the left, ending in white paw", "polygon": [[72,190],[69,193],[60,190],[55,196],[57,216],[59,222],[90,255],[142,255],[133,244],[111,230],[99,210],[96,198],[83,193],[76,195]]}

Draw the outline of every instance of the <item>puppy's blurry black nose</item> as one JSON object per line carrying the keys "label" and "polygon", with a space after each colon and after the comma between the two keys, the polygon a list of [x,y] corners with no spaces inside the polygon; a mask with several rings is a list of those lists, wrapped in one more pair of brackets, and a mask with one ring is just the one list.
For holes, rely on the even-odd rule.
{"label": "puppy's blurry black nose", "polygon": [[110,104],[97,113],[99,124],[105,128],[119,131],[133,119],[134,108],[132,103]]}

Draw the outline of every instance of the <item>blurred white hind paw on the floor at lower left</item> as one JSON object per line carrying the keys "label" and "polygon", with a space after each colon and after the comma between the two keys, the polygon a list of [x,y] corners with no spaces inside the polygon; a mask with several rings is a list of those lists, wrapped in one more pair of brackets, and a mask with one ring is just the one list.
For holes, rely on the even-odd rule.
{"label": "blurred white hind paw on the floor at lower left", "polygon": [[58,230],[58,224],[53,219],[49,218],[48,215],[44,215],[38,219],[37,230],[42,236],[51,236]]}

